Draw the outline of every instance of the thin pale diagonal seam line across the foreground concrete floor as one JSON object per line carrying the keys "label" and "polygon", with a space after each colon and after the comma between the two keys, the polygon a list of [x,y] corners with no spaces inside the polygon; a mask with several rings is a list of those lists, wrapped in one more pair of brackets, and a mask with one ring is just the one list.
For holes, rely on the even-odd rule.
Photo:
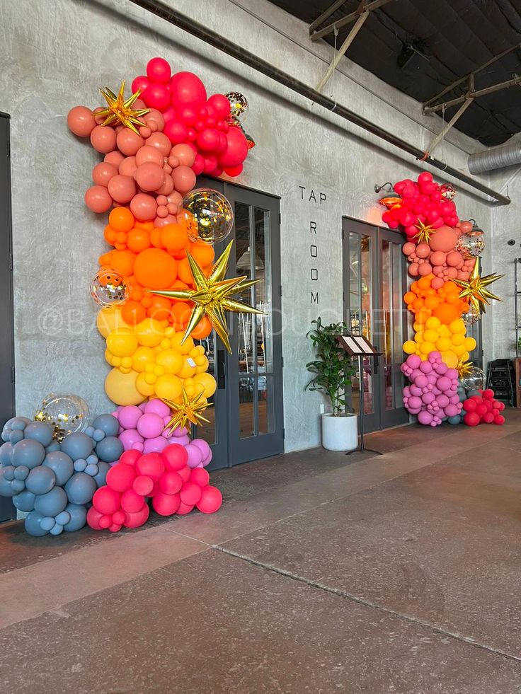
{"label": "thin pale diagonal seam line across the foreground concrete floor", "polygon": [[516,663],[521,663],[521,657],[517,657],[511,653],[507,653],[505,651],[502,651],[498,648],[494,648],[492,646],[487,646],[486,644],[481,644],[474,639],[471,639],[470,637],[466,637],[462,634],[457,634],[455,632],[451,632],[448,630],[445,630],[441,627],[437,627],[433,624],[430,624],[429,622],[425,622],[424,620],[420,620],[416,617],[413,617],[412,615],[406,615],[401,612],[396,612],[394,610],[391,610],[390,608],[384,607],[382,605],[378,605],[377,603],[372,603],[369,600],[365,600],[364,598],[360,598],[358,596],[353,595],[352,593],[349,593],[348,591],[343,591],[338,588],[333,588],[331,586],[326,586],[325,584],[321,584],[317,581],[313,581],[311,579],[307,579],[303,576],[299,576],[298,574],[293,574],[290,571],[287,571],[285,569],[281,569],[280,567],[275,567],[270,564],[265,564],[264,562],[260,562],[258,560],[253,559],[252,557],[248,557],[246,555],[239,554],[237,552],[233,552],[231,550],[228,550],[227,548],[222,547],[222,545],[212,545],[215,550],[218,552],[222,552],[223,554],[227,554],[231,557],[236,557],[236,559],[240,559],[242,561],[248,562],[249,564],[252,564],[254,566],[260,567],[262,569],[266,569],[267,571],[273,572],[275,574],[278,574],[280,576],[283,576],[285,578],[290,578],[293,581],[297,581],[299,583],[302,583],[304,585],[309,586],[310,588],[316,588],[321,591],[324,591],[326,593],[336,595],[340,598],[345,598],[346,600],[353,601],[359,605],[363,605],[365,607],[372,608],[374,610],[383,612],[387,615],[392,615],[398,619],[404,620],[408,623],[411,624],[416,624],[418,626],[423,626],[427,627],[428,629],[432,630],[433,632],[450,637],[454,640],[457,640],[459,642],[468,644],[469,646],[474,646],[476,648],[481,648],[483,650],[486,650],[490,653],[499,655],[504,658],[508,658],[509,660],[515,661]]}

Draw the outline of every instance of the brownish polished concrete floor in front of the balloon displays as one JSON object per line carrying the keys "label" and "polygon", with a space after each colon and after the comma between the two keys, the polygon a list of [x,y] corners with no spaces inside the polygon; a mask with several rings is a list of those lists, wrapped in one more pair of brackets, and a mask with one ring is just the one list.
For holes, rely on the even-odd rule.
{"label": "brownish polished concrete floor in front of the balloon displays", "polygon": [[214,516],[0,526],[4,694],[521,692],[521,410],[212,475]]}

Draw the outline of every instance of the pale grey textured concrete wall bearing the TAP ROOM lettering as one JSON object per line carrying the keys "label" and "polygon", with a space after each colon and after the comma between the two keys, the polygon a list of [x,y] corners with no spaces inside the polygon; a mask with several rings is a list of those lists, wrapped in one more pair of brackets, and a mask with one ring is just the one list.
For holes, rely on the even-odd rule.
{"label": "pale grey textured concrete wall bearing the TAP ROOM lettering", "polygon": [[[306,25],[264,0],[173,4],[302,81],[318,83],[331,60],[330,47],[310,44]],[[108,366],[87,291],[105,250],[104,221],[83,204],[98,157],[68,132],[64,117],[78,103],[101,103],[99,86],[117,88],[121,79],[142,74],[150,57],[161,55],[174,71],[200,75],[208,93],[237,89],[251,104],[247,129],[257,146],[239,182],[281,198],[286,445],[292,450],[317,444],[319,395],[303,392],[304,364],[311,357],[305,333],[319,314],[324,320],[342,315],[341,218],[377,224],[381,210],[374,183],[416,176],[420,167],[127,0],[0,0],[0,10],[0,109],[12,117],[18,412],[31,414],[52,390],[82,395],[93,412],[108,407],[103,391]],[[325,91],[331,93],[331,83]],[[333,96],[423,148],[441,126],[436,117],[421,117],[418,103],[348,59],[336,73]],[[467,154],[479,149],[452,132],[437,154],[466,170]],[[309,201],[311,189],[317,200],[323,192],[326,201]],[[457,204],[460,216],[491,229],[491,207],[483,199],[459,187]],[[310,221],[317,224],[319,248],[313,263]],[[486,270],[491,255],[489,246]],[[310,279],[312,265],[317,282]],[[317,289],[319,306],[311,303],[311,290]],[[490,347],[487,320],[483,329]]]}

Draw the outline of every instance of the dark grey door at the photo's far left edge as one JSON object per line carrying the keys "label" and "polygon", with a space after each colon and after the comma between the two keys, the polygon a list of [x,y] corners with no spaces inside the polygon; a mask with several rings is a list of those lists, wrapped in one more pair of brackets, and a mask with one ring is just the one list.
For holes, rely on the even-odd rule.
{"label": "dark grey door at the photo's far left edge", "polygon": [[[9,120],[6,113],[0,112],[0,430],[15,412]],[[15,509],[11,499],[0,497],[0,521],[14,517]]]}

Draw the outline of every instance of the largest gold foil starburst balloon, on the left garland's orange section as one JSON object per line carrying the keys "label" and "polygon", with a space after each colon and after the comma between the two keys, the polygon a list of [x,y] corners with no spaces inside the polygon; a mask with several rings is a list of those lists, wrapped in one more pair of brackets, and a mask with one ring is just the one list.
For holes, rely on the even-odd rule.
{"label": "largest gold foil starburst balloon, on the left garland's orange section", "polygon": [[224,253],[215,263],[212,272],[209,277],[205,277],[205,273],[202,272],[197,262],[194,258],[187,253],[188,262],[190,263],[190,269],[193,274],[193,284],[195,289],[179,289],[179,290],[165,290],[165,291],[153,291],[152,294],[159,294],[159,296],[168,296],[170,299],[188,299],[193,301],[195,306],[193,307],[190,320],[188,320],[188,325],[186,326],[185,335],[181,344],[186,340],[190,332],[195,328],[197,323],[201,320],[203,316],[207,316],[212,323],[212,326],[217,332],[217,335],[221,338],[224,346],[227,348],[228,352],[231,354],[231,347],[228,337],[228,328],[226,323],[226,316],[224,311],[234,311],[234,313],[260,313],[258,308],[253,308],[253,306],[248,306],[244,301],[237,301],[236,299],[231,299],[233,294],[237,294],[239,291],[244,291],[248,287],[252,287],[253,284],[259,282],[258,279],[246,279],[244,277],[232,277],[231,279],[224,279],[224,275],[228,269],[228,260],[231,251],[231,245],[233,241],[227,245]]}

